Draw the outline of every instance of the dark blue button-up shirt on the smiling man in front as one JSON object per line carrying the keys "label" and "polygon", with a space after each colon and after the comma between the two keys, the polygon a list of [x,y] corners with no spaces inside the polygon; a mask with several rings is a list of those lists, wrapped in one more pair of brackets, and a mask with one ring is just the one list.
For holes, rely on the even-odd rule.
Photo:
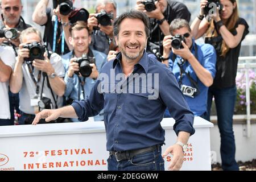
{"label": "dark blue button-up shirt on the smiling man in front", "polygon": [[[166,65],[151,59],[144,52],[139,63],[134,65],[133,73],[134,75],[138,73],[136,78],[129,76],[122,82],[124,84],[120,84],[122,79],[118,77],[119,73],[123,73],[121,53],[101,69],[90,97],[72,103],[80,121],[87,120],[104,108],[108,151],[134,150],[163,144],[164,130],[160,122],[166,107],[176,121],[174,125],[176,135],[179,131],[186,131],[191,135],[195,133],[193,113],[189,110],[173,73]],[[148,81],[149,84],[144,86],[143,75],[150,80],[150,75],[153,74],[154,85],[150,85]],[[102,75],[105,77],[103,78]],[[138,78],[141,75],[142,77]],[[133,81],[136,79],[139,82]],[[139,89],[141,92],[125,93],[129,89],[133,91]],[[148,99],[154,95],[155,99]]]}

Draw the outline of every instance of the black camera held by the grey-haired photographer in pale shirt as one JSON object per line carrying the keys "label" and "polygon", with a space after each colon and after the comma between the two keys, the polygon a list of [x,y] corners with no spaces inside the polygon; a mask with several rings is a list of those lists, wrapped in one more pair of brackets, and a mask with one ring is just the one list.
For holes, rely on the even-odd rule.
{"label": "black camera held by the grey-haired photographer in pale shirt", "polygon": [[24,58],[24,61],[27,63],[32,63],[34,59],[44,60],[44,52],[46,51],[46,48],[42,44],[38,42],[32,42],[31,44],[26,44],[23,46],[23,48],[30,50],[30,57]]}

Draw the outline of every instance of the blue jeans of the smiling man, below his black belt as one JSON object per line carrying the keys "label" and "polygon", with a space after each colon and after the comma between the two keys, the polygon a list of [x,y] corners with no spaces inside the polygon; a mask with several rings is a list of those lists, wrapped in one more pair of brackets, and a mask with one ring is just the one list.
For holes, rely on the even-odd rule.
{"label": "blue jeans of the smiling man, below his black belt", "polygon": [[162,149],[157,147],[153,151],[135,155],[132,159],[117,162],[114,155],[108,158],[109,171],[164,171]]}

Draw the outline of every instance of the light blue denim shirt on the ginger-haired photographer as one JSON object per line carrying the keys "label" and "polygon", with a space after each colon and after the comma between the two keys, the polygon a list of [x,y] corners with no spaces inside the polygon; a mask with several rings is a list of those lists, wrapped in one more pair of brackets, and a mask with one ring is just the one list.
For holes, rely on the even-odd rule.
{"label": "light blue denim shirt on the ginger-haired photographer", "polygon": [[[102,65],[104,65],[107,61],[107,56],[104,53],[92,50],[93,55],[96,60],[96,67],[98,72],[101,71]],[[82,88],[81,84],[79,82],[79,76],[74,74],[73,77],[68,77],[68,67],[69,67],[69,60],[71,59],[72,51],[63,55],[62,61],[65,68],[65,77],[64,81],[66,84],[65,93],[64,96],[68,98],[72,98],[72,100],[82,100],[85,97],[88,97],[90,95],[90,92],[96,82],[96,80],[93,80],[90,77],[85,78],[85,84],[84,84],[84,96],[82,94]],[[84,80],[84,77],[81,77],[81,80]],[[79,87],[80,87],[80,93],[79,93]],[[78,97],[80,96],[80,97]],[[99,115],[96,115],[94,117],[94,121],[102,121],[103,118],[103,110]],[[77,122],[77,119],[72,119],[72,121]]]}

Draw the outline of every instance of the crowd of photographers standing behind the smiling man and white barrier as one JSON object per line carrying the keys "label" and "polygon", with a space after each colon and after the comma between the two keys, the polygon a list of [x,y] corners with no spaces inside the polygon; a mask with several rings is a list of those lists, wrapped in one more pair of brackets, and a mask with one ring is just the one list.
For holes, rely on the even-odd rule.
{"label": "crowd of photographers standing behind the smiling man and white barrier", "polygon": [[[2,0],[1,9],[0,126],[14,125],[14,110],[19,125],[31,124],[40,110],[89,97],[102,65],[119,52],[113,35],[114,0],[98,0],[91,14],[69,0],[40,0],[32,20],[44,26],[43,37],[20,16],[21,0]],[[171,69],[193,113],[209,120],[215,97],[218,122],[223,123],[219,124],[222,144],[229,143],[222,146],[223,156],[225,150],[234,154],[234,78],[241,41],[249,32],[238,16],[236,1],[201,0],[191,26],[191,13],[180,2],[137,0],[135,9],[150,19],[148,55]],[[208,44],[196,43],[204,34]],[[104,110],[94,120],[102,121],[103,114]],[[171,113],[166,110],[164,116]],[[64,120],[78,121],[52,122]],[[222,159],[223,167],[237,169],[234,156],[225,157],[229,161],[225,166]]]}

